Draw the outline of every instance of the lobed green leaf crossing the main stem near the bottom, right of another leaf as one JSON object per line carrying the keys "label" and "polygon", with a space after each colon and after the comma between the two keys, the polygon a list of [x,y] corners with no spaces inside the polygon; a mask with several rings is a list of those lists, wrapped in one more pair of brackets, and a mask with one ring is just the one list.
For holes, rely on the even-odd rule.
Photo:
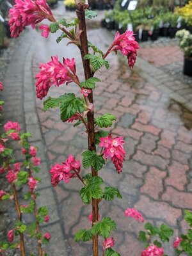
{"label": "lobed green leaf crossing the main stem near the bottom, right of another leaf", "polygon": [[104,237],[105,239],[109,237],[112,230],[116,229],[115,221],[111,220],[109,217],[102,218],[101,221],[98,221],[92,227],[92,234],[93,236],[100,234],[100,236]]}

